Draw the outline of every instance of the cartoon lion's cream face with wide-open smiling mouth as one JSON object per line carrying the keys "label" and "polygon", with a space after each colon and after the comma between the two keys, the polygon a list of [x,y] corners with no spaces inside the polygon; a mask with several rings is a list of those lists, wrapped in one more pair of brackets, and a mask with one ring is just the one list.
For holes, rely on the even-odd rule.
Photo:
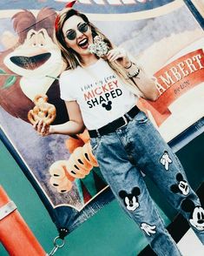
{"label": "cartoon lion's cream face with wide-open smiling mouth", "polygon": [[10,71],[23,77],[52,75],[62,69],[61,51],[49,37],[47,30],[29,30],[23,44],[4,58]]}

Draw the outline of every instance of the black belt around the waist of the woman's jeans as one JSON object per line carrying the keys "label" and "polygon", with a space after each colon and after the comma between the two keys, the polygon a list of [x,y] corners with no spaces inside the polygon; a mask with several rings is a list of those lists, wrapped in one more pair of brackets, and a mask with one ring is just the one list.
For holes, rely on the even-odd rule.
{"label": "black belt around the waist of the woman's jeans", "polygon": [[[130,111],[125,113],[121,118],[115,119],[113,122],[108,125],[104,125],[96,130],[89,130],[90,138],[96,138],[102,135],[106,135],[110,132],[114,132],[116,129],[121,128],[122,126],[128,125],[128,122],[135,118],[136,114],[140,111],[137,106],[134,106]],[[131,118],[131,119],[130,119]]]}

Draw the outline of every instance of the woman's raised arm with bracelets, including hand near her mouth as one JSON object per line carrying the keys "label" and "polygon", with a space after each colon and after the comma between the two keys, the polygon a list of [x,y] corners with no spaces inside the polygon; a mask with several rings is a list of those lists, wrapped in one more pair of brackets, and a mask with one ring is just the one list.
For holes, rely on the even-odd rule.
{"label": "woman's raised arm with bracelets, including hand near her mouth", "polygon": [[117,61],[122,64],[125,69],[128,79],[131,79],[138,89],[142,92],[142,98],[156,100],[159,96],[159,91],[155,87],[154,80],[148,77],[143,68],[136,64],[132,57],[128,56],[127,51],[122,48],[114,48],[107,55],[109,61]]}

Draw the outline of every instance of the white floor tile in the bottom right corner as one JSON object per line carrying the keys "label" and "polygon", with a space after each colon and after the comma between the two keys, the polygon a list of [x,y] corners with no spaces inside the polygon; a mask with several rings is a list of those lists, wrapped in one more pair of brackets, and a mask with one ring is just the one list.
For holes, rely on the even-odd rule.
{"label": "white floor tile in the bottom right corner", "polygon": [[179,241],[178,247],[182,256],[204,256],[204,246],[202,246],[201,241],[197,239],[191,228]]}

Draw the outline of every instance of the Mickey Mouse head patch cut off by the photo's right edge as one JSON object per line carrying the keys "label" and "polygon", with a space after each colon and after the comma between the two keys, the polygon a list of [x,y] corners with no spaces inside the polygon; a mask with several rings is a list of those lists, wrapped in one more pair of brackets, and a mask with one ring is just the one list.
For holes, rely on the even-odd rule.
{"label": "Mickey Mouse head patch cut off by the photo's right edge", "polygon": [[189,222],[198,231],[204,231],[204,210],[201,206],[195,206],[191,199],[182,201],[181,209],[184,212],[190,212]]}

